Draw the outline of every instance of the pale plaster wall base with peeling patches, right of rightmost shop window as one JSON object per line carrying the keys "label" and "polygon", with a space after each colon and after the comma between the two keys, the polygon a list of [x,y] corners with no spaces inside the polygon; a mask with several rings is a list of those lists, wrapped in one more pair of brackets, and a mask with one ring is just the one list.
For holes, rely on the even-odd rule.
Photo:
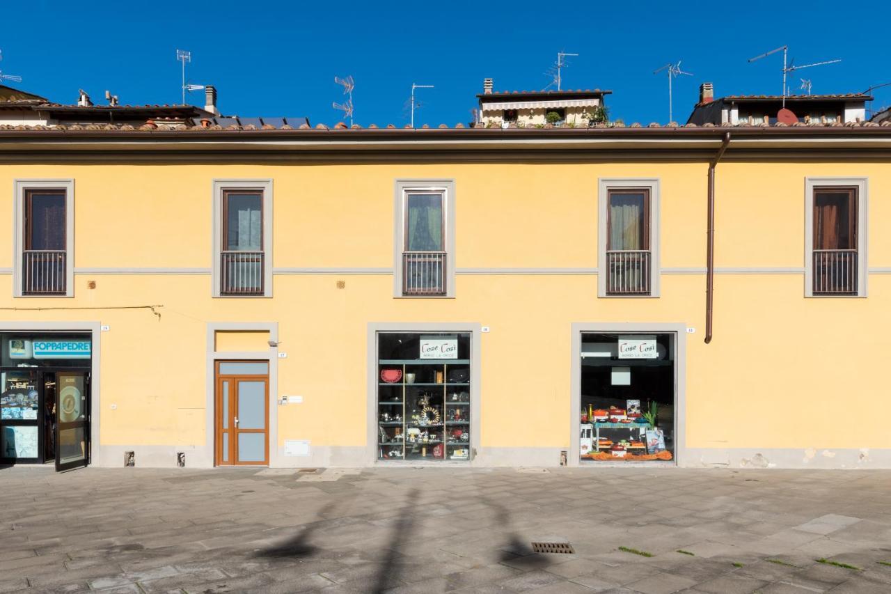
{"label": "pale plaster wall base with peeling patches, right of rightmost shop window", "polygon": [[680,466],[730,468],[891,468],[891,450],[688,448]]}

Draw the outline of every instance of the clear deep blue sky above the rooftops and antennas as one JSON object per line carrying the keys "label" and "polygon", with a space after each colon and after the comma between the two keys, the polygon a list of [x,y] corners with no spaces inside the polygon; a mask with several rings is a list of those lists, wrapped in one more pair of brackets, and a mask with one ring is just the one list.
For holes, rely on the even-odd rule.
{"label": "clear deep blue sky above the rooftops and antennas", "polygon": [[[189,81],[213,84],[220,109],[241,116],[303,116],[315,125],[342,119],[335,75],[356,79],[356,123],[405,125],[413,82],[420,126],[471,119],[483,78],[496,90],[544,88],[560,50],[580,54],[563,88],[609,88],[610,117],[665,122],[667,81],[653,70],[683,60],[694,73],[674,84],[674,119],[686,121],[699,83],[715,95],[779,94],[781,54],[797,64],[843,62],[793,72],[813,93],[863,91],[891,82],[891,4],[717,2],[234,2],[73,3],[30,0],[4,5],[0,70],[13,84],[60,103],[84,88],[95,103],[105,89],[121,103],[179,103],[176,48],[192,52]],[[783,13],[773,17],[774,13]],[[39,27],[21,23],[40,21]],[[18,24],[17,24],[18,23]],[[891,87],[873,108],[891,103]],[[203,104],[203,94],[187,96]]]}

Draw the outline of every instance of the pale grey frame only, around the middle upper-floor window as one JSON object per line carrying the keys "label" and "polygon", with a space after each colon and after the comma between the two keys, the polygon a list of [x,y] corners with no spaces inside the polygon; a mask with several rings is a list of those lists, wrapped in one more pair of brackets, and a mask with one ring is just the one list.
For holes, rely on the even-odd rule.
{"label": "pale grey frame only, around the middle upper-floor window", "polygon": [[[394,234],[393,234],[393,296],[400,299],[453,299],[454,291],[454,179],[396,179],[394,192]],[[403,269],[402,253],[405,247],[405,201],[413,192],[443,194],[443,236],[446,245],[446,294],[445,295],[405,295],[402,293]]]}

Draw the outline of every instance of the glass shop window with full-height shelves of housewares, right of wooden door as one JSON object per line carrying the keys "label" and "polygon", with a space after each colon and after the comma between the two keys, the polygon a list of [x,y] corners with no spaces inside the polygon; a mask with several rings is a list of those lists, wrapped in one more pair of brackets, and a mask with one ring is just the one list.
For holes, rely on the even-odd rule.
{"label": "glass shop window with full-height shelves of housewares, right of wooden door", "polygon": [[378,333],[378,459],[470,460],[470,333]]}

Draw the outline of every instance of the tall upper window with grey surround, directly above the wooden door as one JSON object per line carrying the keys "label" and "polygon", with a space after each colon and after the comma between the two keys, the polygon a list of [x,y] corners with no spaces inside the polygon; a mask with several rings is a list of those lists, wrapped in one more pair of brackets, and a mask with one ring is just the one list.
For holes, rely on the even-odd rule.
{"label": "tall upper window with grey surround, directly above the wooden door", "polygon": [[215,193],[215,295],[271,296],[272,182],[216,182]]}

